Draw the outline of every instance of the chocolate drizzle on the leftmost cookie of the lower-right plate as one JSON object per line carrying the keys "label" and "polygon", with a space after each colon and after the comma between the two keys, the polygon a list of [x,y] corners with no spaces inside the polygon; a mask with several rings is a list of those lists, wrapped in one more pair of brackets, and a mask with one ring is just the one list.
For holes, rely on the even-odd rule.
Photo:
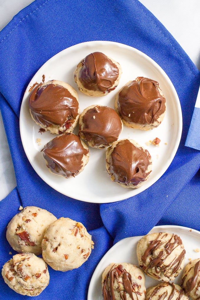
{"label": "chocolate drizzle on the leftmost cookie of the lower-right plate", "polygon": [[[108,278],[109,278],[109,286],[108,286]],[[119,291],[120,298],[125,300],[127,299],[126,295],[129,295],[132,300],[133,293],[136,294],[136,297],[138,299],[137,293],[140,295],[140,292],[138,291],[139,286],[137,283],[134,283],[132,281],[131,274],[127,272],[125,269],[123,269],[122,265],[118,265],[116,268],[110,270],[104,280],[103,284],[103,300],[113,300],[115,299],[114,294],[114,282],[117,280],[118,286],[119,282],[121,282],[124,287],[123,293],[122,291]],[[137,289],[135,289],[137,287]],[[136,292],[137,290],[137,292]]]}

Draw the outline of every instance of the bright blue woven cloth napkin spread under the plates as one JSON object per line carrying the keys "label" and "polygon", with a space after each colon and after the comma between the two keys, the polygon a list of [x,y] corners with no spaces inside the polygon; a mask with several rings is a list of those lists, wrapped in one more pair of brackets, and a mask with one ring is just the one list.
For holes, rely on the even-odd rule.
{"label": "bright blue woven cloth napkin spread under the plates", "polygon": [[[154,59],[178,93],[183,133],[165,174],[148,190],[120,202],[94,204],[64,196],[40,179],[22,147],[19,111],[32,76],[59,51],[85,41],[107,40],[135,47]],[[1,266],[15,254],[5,238],[19,206],[35,205],[56,217],[82,222],[94,241],[89,259],[68,272],[49,267],[49,286],[37,299],[87,299],[91,276],[106,251],[122,238],[144,235],[157,224],[200,229],[200,152],[185,147],[200,73],[164,26],[137,0],[36,0],[0,32],[0,108],[17,187],[0,202]],[[92,212],[92,213],[91,213]],[[0,299],[28,299],[0,277]]]}

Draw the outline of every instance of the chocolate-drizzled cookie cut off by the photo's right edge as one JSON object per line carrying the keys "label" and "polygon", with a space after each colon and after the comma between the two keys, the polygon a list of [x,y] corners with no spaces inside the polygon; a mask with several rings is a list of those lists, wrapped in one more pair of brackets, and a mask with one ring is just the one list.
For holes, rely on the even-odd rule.
{"label": "chocolate-drizzled cookie cut off by the photo's right edge", "polygon": [[200,298],[200,259],[191,260],[184,268],[182,286],[192,300]]}

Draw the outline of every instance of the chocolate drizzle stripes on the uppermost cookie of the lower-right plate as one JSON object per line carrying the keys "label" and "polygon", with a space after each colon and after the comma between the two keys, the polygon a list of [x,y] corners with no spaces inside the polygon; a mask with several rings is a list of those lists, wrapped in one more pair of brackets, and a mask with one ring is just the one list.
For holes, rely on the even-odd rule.
{"label": "chocolate drizzle stripes on the uppermost cookie of the lower-right plate", "polygon": [[[172,251],[175,250],[176,247],[182,245],[181,238],[178,235],[172,234],[172,237],[169,239],[169,241],[166,242],[166,244],[164,246],[164,250],[160,249],[160,252],[156,255],[155,258],[153,258],[154,257],[153,253],[157,252],[158,249],[161,247],[161,245],[164,243],[162,241],[162,238],[166,237],[168,234],[165,233],[162,237],[160,237],[161,235],[163,235],[163,233],[160,232],[157,235],[157,238],[154,241],[151,241],[149,243],[149,245],[148,245],[147,249],[145,250],[144,254],[142,255],[141,259],[142,259],[142,262],[144,262],[144,264],[145,264],[147,258],[149,256],[152,256],[151,262],[148,264],[148,266],[145,264],[145,265],[141,265],[141,267],[143,268],[145,273],[148,272],[148,269],[155,268],[155,272],[157,274],[160,272],[163,272],[163,274],[165,274],[166,277],[170,278],[172,276],[172,274],[176,274],[176,272],[179,270],[180,265],[185,256],[185,250],[183,249],[181,254],[179,256],[177,256],[175,259],[173,259],[169,265],[164,264],[165,260],[172,253]],[[159,237],[161,239],[159,239]],[[155,275],[156,274],[154,274],[154,276]],[[158,276],[158,278],[160,278],[160,277]]]}

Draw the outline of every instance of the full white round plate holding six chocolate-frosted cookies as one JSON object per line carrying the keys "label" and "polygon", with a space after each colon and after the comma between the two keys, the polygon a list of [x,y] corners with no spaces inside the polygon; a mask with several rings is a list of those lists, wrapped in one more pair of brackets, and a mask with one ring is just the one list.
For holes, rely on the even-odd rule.
{"label": "full white round plate holding six chocolate-frosted cookies", "polygon": [[[122,76],[118,87],[104,97],[90,97],[79,92],[74,82],[76,65],[91,52],[100,51],[118,61]],[[112,182],[106,171],[106,149],[90,148],[90,158],[85,169],[75,178],[65,179],[49,172],[40,150],[54,136],[49,132],[40,133],[31,119],[28,107],[29,89],[35,82],[57,79],[69,83],[79,95],[80,111],[92,104],[114,108],[116,93],[130,80],[138,76],[148,77],[159,82],[165,97],[167,110],[163,122],[150,131],[124,129],[119,139],[130,138],[148,149],[152,157],[152,172],[149,179],[138,189],[123,188]],[[178,95],[166,73],[151,58],[130,46],[108,41],[93,41],[77,44],[50,58],[37,71],[29,83],[20,111],[20,134],[25,153],[37,174],[58,192],[86,202],[106,203],[127,199],[154,184],[167,170],[175,156],[181,139],[182,114]],[[77,128],[74,133],[77,133]],[[160,138],[159,146],[147,146],[150,140]],[[39,140],[38,140],[39,139]],[[40,141],[40,142],[38,142]]]}

